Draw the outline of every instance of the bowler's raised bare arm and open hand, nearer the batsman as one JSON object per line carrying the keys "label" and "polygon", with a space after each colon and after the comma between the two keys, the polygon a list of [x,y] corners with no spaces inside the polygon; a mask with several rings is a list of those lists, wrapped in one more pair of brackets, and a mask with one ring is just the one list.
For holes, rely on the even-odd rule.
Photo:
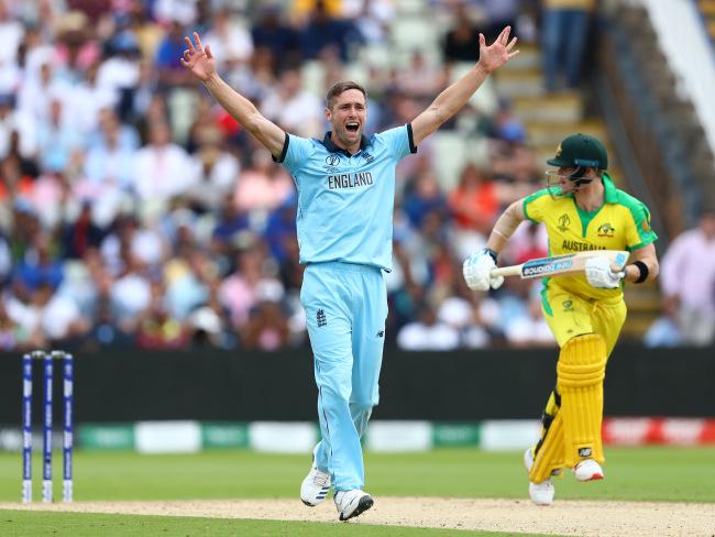
{"label": "bowler's raised bare arm and open hand, nearer the batsman", "polygon": [[490,46],[486,46],[484,35],[480,34],[480,61],[462,78],[437,96],[427,110],[413,121],[413,139],[415,145],[435,132],[448,119],[454,116],[474,95],[486,77],[514,56],[519,51],[514,51],[516,37],[509,42],[510,26],[502,30],[499,36]]}

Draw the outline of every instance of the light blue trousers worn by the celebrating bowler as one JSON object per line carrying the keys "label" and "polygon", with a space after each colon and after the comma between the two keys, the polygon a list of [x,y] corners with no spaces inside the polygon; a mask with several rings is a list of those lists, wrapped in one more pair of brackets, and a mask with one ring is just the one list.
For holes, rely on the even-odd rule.
{"label": "light blue trousers worn by the celebrating bowler", "polygon": [[318,385],[322,439],[316,465],[331,474],[336,492],[363,489],[360,438],[378,401],[387,318],[382,271],[341,262],[308,264],[300,302]]}

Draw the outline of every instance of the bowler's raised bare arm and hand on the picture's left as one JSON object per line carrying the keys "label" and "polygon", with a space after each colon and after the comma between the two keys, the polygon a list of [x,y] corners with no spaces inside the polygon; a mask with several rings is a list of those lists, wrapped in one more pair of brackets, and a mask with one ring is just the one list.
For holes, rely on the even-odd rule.
{"label": "bowler's raised bare arm and hand on the picture's left", "polygon": [[201,44],[198,32],[194,32],[194,41],[185,37],[186,46],[182,65],[199,79],[213,98],[229,112],[245,130],[261,142],[273,156],[280,156],[286,134],[278,125],[264,118],[249,99],[226,84],[216,72],[216,61],[211,47]]}

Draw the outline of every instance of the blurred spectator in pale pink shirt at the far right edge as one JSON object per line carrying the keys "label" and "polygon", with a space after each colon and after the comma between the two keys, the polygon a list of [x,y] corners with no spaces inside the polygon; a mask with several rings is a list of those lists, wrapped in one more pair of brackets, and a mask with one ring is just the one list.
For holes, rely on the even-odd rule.
{"label": "blurred spectator in pale pink shirt at the far right edge", "polygon": [[682,341],[695,346],[713,344],[715,211],[703,211],[697,227],[671,243],[663,255],[660,277],[667,311],[674,311]]}

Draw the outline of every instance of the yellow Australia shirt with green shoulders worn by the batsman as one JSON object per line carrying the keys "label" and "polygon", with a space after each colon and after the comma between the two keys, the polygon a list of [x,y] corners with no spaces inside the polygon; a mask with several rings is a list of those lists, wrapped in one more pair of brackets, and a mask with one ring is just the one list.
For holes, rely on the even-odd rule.
{"label": "yellow Australia shirt with green shoulders worn by the batsman", "polygon": [[[548,188],[524,199],[524,213],[534,222],[544,222],[549,235],[549,255],[585,250],[637,250],[658,237],[650,228],[648,208],[629,194],[616,188],[608,174],[603,175],[604,204],[587,212],[576,205],[572,194],[553,197]],[[551,191],[559,191],[552,187]],[[558,282],[557,282],[558,280]],[[544,291],[551,278],[543,278]],[[607,299],[623,295],[616,289],[592,287],[585,274],[557,276],[553,283],[586,298]]]}

